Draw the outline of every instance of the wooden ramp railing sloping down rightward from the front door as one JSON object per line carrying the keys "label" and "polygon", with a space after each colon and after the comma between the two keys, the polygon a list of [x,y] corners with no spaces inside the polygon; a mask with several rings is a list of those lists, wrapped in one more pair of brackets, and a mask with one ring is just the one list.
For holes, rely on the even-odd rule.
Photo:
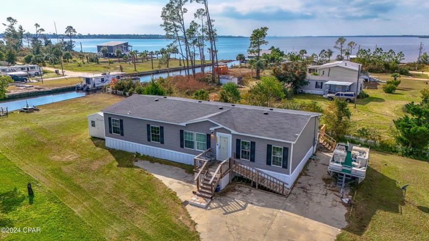
{"label": "wooden ramp railing sloping down rightward from the front door", "polygon": [[288,183],[283,182],[264,172],[261,172],[256,168],[248,166],[237,159],[234,159],[231,157],[230,163],[231,163],[231,170],[242,176],[247,175],[247,177],[245,176],[246,178],[256,183],[256,189],[258,188],[258,185],[261,185],[272,190],[273,192],[284,195],[285,189],[288,188]]}

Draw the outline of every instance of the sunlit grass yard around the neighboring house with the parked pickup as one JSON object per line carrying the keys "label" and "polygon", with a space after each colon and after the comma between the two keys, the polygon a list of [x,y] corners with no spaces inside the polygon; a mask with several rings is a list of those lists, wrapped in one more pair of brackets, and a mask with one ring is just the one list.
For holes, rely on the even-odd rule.
{"label": "sunlit grass yard around the neighboring house with the parked pickup", "polygon": [[[391,80],[392,78],[390,75],[383,75],[381,79]],[[364,89],[370,97],[358,99],[356,109],[353,108],[354,103],[348,104],[352,114],[351,119],[357,124],[356,128],[372,127],[377,129],[380,135],[387,137],[386,132],[393,125],[392,120],[404,114],[402,106],[412,101],[420,102],[420,90],[429,88],[429,85],[425,83],[429,80],[419,80],[417,77],[401,77],[400,79],[401,84],[395,93],[385,93],[382,89],[383,83],[378,83],[376,89]],[[296,94],[293,100],[303,102],[316,100],[323,108],[330,103],[321,95],[314,94]]]}

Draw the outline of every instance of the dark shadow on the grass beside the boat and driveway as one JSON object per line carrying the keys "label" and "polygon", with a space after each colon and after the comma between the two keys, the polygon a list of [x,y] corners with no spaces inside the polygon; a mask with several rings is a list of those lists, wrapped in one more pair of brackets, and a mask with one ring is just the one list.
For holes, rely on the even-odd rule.
{"label": "dark shadow on the grass beside the boat and driveway", "polygon": [[363,235],[375,213],[379,210],[400,213],[404,204],[402,190],[393,180],[368,166],[365,180],[358,185],[352,213],[346,214],[349,225],[344,230]]}

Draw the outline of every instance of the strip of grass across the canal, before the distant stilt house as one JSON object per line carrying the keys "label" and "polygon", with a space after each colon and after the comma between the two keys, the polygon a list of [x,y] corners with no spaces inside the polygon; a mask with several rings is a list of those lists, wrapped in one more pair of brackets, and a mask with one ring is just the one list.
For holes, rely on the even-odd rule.
{"label": "strip of grass across the canal, before the distant stilt house", "polygon": [[[107,60],[107,59],[106,59]],[[111,58],[111,60],[114,60]],[[79,61],[79,60],[78,60]],[[208,61],[207,61],[208,62]],[[199,64],[201,63],[200,60],[196,60],[196,63]],[[79,64],[81,66],[79,66]],[[190,64],[190,62],[189,62]],[[125,73],[135,73],[136,71],[134,70],[134,64],[127,62],[125,63],[125,61],[121,60],[121,63],[118,62],[114,62],[112,64],[108,64],[108,63],[86,63],[82,64],[82,62],[64,62],[63,63],[63,68],[64,70],[71,70],[71,71],[76,71],[76,72],[85,72],[85,73],[100,73],[103,71],[120,71],[120,65],[122,65],[122,68],[124,70]],[[55,67],[55,68],[60,68],[60,65],[47,65],[48,67]],[[182,63],[183,66],[183,63]],[[169,64],[170,68],[174,68],[174,67],[179,67],[179,60],[178,59],[172,59],[170,60],[170,64]],[[153,68],[154,69],[163,69],[166,68],[165,66],[161,66],[158,67],[158,59],[154,59],[153,60]],[[136,62],[136,69],[137,72],[141,72],[141,71],[149,71],[152,70],[152,63],[151,61],[146,61],[145,62],[141,62],[141,60]]]}

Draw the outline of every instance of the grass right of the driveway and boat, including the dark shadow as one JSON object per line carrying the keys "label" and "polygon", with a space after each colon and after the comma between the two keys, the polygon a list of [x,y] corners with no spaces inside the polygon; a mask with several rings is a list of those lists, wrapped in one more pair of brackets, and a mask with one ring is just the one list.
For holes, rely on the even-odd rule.
{"label": "grass right of the driveway and boat, including the dark shadow", "polygon": [[[429,240],[429,162],[371,151],[349,222],[338,240]],[[410,184],[405,201],[396,187]],[[352,191],[354,194],[354,191]]]}

